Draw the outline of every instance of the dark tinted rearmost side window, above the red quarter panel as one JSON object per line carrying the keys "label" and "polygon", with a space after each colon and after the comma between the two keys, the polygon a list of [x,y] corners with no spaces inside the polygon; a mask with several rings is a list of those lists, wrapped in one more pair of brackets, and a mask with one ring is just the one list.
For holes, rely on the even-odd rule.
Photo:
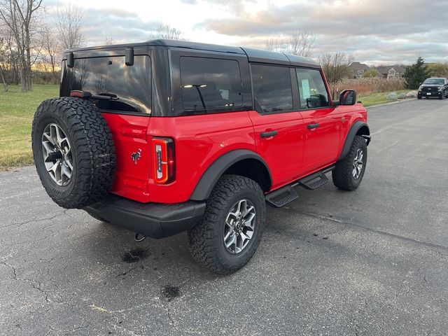
{"label": "dark tinted rearmost side window, above the red quarter panel", "polygon": [[181,92],[186,110],[241,106],[241,74],[237,61],[181,57]]}

